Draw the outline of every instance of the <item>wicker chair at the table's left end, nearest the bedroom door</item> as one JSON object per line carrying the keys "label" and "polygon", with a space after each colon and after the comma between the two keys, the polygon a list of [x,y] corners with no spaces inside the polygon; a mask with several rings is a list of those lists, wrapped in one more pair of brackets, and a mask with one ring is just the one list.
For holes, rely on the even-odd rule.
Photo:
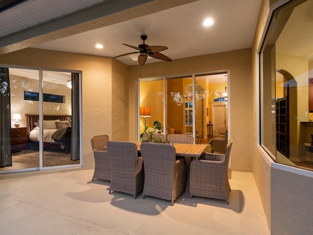
{"label": "wicker chair at the table's left end, nearest the bedroom door", "polygon": [[109,154],[107,150],[104,150],[108,141],[108,135],[91,137],[91,147],[94,157],[94,172],[92,181],[94,178],[111,181],[111,164]]}

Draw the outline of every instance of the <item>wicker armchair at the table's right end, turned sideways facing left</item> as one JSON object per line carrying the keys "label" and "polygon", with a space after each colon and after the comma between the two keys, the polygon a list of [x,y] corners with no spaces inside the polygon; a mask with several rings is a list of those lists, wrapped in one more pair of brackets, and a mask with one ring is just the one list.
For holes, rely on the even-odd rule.
{"label": "wicker armchair at the table's right end, turned sideways facing left", "polygon": [[230,185],[228,163],[233,141],[226,145],[226,153],[205,153],[205,160],[193,160],[190,165],[190,198],[209,197],[228,201]]}

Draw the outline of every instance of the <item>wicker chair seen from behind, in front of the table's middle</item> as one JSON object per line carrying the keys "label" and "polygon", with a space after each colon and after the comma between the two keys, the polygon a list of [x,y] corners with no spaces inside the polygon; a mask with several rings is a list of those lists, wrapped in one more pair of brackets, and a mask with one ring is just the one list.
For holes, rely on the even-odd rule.
{"label": "wicker chair seen from behind, in front of the table's middle", "polygon": [[145,196],[174,200],[186,187],[186,162],[176,160],[176,150],[172,144],[142,142],[141,156],[144,163],[145,182],[142,198]]}

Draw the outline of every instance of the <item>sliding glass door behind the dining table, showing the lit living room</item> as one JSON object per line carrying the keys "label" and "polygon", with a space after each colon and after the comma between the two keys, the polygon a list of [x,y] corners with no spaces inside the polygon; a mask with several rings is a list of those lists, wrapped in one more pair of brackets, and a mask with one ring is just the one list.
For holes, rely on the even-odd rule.
{"label": "sliding glass door behind the dining table, showing the lit living room", "polygon": [[153,121],[158,120],[162,133],[193,135],[195,143],[225,134],[229,123],[227,77],[228,71],[218,71],[138,81],[138,111],[144,107],[151,111],[139,119],[139,133],[144,131],[144,120],[151,131]]}

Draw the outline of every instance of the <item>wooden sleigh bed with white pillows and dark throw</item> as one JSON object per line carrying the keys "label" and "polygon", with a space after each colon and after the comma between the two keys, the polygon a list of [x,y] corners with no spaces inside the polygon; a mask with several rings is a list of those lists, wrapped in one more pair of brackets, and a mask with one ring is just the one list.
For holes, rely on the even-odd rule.
{"label": "wooden sleigh bed with white pillows and dark throw", "polygon": [[[38,143],[39,115],[25,114],[28,142]],[[70,115],[44,115],[43,120],[44,148],[61,148],[70,153],[71,116]]]}

